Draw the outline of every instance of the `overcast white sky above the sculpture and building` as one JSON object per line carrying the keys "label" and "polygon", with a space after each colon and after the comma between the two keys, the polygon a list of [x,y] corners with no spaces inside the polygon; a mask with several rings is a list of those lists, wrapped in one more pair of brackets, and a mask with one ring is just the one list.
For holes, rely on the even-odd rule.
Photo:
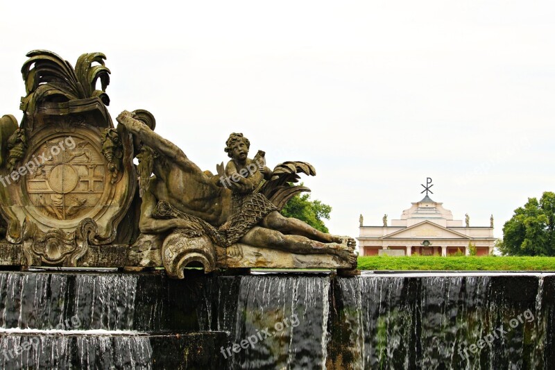
{"label": "overcast white sky above the sculpture and building", "polygon": [[21,119],[25,54],[102,51],[112,118],[144,108],[201,168],[242,132],[305,160],[333,233],[430,195],[495,236],[555,191],[553,1],[3,1],[0,115]]}

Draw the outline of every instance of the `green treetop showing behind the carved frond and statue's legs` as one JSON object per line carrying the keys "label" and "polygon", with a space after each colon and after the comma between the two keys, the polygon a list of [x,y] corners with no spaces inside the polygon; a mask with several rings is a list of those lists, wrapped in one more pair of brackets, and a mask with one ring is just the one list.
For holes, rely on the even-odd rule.
{"label": "green treetop showing behind the carved frond and statue's legs", "polygon": [[282,209],[282,215],[285,217],[294,217],[305,221],[323,233],[329,232],[322,219],[330,219],[330,212],[332,212],[330,205],[318,200],[311,201],[310,194],[306,193],[293,196]]}

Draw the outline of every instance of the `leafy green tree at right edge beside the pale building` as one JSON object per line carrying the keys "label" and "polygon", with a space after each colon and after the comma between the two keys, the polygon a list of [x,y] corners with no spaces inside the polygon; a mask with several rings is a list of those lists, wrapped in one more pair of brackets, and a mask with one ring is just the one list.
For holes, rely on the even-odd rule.
{"label": "leafy green tree at right edge beside the pale building", "polygon": [[505,255],[555,255],[555,193],[529,198],[503,226]]}

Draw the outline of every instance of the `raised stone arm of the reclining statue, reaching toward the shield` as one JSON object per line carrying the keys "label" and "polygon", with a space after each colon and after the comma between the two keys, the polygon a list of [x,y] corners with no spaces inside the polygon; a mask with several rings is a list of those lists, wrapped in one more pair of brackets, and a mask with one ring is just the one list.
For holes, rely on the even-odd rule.
{"label": "raised stone arm of the reclining statue, reaching toward the shield", "polygon": [[152,149],[167,158],[171,158],[172,162],[177,163],[188,171],[198,170],[202,172],[197,165],[187,158],[187,155],[185,155],[185,153],[183,153],[183,151],[176,144],[173,144],[173,142],[164,139],[164,137],[152,131],[150,127],[144,124],[144,122],[133,118],[133,113],[123,110],[123,112],[117,116],[117,121],[123,126],[126,126],[126,128],[133,133],[133,135],[137,135],[139,140],[141,140],[144,144],[150,146]]}

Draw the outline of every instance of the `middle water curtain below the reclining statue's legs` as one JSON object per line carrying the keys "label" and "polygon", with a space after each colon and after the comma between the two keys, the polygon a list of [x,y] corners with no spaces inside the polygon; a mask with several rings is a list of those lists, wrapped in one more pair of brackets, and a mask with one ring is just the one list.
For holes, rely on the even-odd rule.
{"label": "middle water curtain below the reclining statue's legs", "polygon": [[242,277],[234,343],[253,344],[232,368],[325,369],[329,291],[328,276]]}

